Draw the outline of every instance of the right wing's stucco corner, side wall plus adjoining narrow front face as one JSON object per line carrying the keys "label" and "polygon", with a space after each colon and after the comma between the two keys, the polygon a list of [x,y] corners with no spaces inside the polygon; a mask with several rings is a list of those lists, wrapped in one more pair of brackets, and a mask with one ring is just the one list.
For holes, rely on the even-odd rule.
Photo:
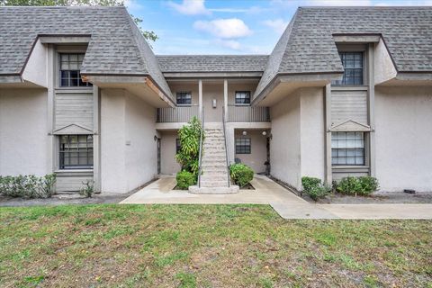
{"label": "right wing's stucco corner, side wall plus adjoining narrow front face", "polygon": [[302,88],[271,107],[271,174],[302,189],[302,176],[324,180],[324,90]]}

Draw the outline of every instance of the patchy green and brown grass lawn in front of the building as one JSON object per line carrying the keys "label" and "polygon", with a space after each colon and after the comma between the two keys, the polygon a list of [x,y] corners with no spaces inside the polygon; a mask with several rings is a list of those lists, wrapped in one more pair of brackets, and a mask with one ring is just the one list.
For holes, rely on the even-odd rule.
{"label": "patchy green and brown grass lawn in front of the building", "polygon": [[432,221],[266,205],[0,209],[1,287],[432,287]]}

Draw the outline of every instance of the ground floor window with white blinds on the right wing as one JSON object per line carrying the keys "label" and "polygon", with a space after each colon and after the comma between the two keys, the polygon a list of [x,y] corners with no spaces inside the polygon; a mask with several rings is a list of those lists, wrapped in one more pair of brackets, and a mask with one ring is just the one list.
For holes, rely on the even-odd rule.
{"label": "ground floor window with white blinds on the right wing", "polygon": [[332,132],[331,164],[333,166],[365,166],[365,133]]}

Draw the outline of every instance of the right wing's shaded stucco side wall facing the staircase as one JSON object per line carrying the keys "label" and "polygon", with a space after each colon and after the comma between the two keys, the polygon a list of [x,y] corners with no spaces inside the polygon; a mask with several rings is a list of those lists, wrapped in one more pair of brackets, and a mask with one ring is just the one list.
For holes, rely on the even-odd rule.
{"label": "right wing's shaded stucco side wall facing the staircase", "polygon": [[270,109],[271,174],[293,187],[301,188],[300,94],[290,94]]}

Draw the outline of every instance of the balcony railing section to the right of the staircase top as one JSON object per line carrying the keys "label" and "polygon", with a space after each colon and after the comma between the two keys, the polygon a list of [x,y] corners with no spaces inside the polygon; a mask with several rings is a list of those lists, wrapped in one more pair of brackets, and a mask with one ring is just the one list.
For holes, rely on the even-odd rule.
{"label": "balcony railing section to the right of the staircase top", "polygon": [[228,121],[230,122],[268,122],[270,109],[268,107],[228,106]]}

